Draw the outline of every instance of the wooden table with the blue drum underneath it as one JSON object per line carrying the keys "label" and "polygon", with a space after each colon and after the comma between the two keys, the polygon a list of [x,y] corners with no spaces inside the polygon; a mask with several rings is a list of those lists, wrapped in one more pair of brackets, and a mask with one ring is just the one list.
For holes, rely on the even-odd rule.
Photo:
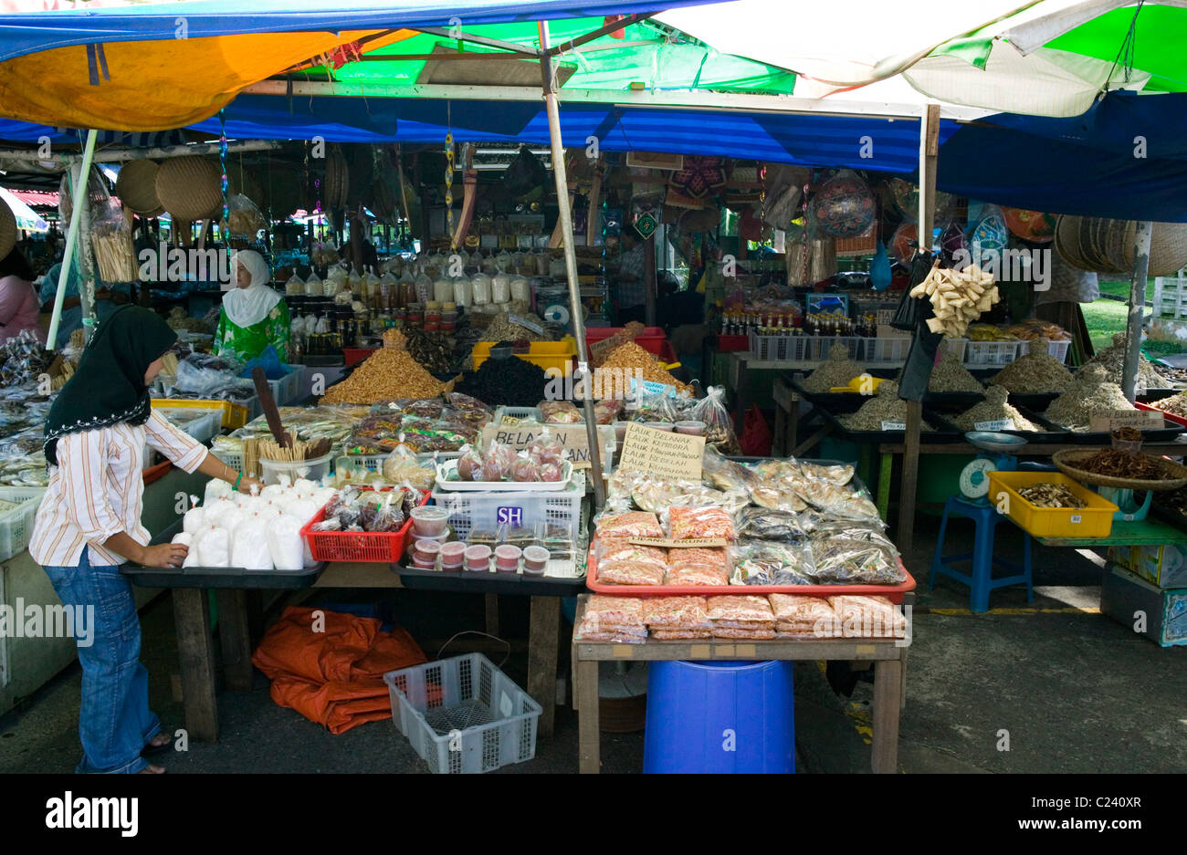
{"label": "wooden table with the blue drum underneath it", "polygon": [[642,644],[583,642],[577,626],[585,613],[588,594],[579,598],[573,625],[573,707],[578,715],[578,759],[582,774],[601,771],[602,734],[598,722],[599,662],[705,662],[705,661],[844,661],[874,663],[872,768],[899,771],[899,713],[904,696],[903,675],[908,639],[837,638],[740,643],[731,639],[659,642]]}

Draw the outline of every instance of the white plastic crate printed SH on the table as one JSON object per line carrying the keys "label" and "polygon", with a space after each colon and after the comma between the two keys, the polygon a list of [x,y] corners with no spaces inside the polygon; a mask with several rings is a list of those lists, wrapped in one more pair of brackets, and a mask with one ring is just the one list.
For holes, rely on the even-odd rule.
{"label": "white plastic crate printed SH on the table", "polygon": [[503,523],[515,527],[551,523],[567,528],[576,542],[580,532],[585,473],[573,472],[569,487],[556,493],[466,493],[434,489],[432,496],[433,504],[449,511],[449,524],[459,541],[475,529],[497,529]]}

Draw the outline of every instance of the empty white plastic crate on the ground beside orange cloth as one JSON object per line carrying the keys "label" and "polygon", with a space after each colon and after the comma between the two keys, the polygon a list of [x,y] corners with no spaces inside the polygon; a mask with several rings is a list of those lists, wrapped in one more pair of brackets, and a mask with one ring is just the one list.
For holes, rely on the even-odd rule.
{"label": "empty white plastic crate on the ground beside orange cloth", "polygon": [[491,772],[535,757],[540,704],[482,653],[383,675],[392,720],[439,774]]}

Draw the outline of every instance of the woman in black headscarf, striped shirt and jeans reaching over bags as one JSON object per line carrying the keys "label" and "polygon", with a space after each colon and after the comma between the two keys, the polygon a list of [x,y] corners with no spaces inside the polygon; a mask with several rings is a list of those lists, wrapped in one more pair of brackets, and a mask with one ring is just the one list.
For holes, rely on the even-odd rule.
{"label": "woman in black headscarf, striped shirt and jeans reaching over bags", "polygon": [[176,340],[154,312],[115,310],[99,325],[45,425],[50,483],[28,551],[75,614],[82,664],[78,772],[163,772],[142,754],[165,751],[171,741],[148,709],[135,598],[120,574],[125,561],[176,567],[188,551],[174,543],[148,545],[140,523],[145,445],[186,472],[221,478],[240,491],[258,484],[152,410],[148,387]]}

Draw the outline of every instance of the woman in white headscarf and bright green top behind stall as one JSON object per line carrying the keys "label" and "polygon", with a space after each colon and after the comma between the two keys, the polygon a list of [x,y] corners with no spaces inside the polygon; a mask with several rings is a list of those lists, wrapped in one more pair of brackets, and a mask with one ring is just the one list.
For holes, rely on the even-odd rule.
{"label": "woman in white headscarf and bright green top behind stall", "polygon": [[230,260],[236,287],[223,295],[214,350],[248,362],[272,345],[280,362],[288,358],[288,306],[268,287],[272,272],[259,253],[243,249]]}

